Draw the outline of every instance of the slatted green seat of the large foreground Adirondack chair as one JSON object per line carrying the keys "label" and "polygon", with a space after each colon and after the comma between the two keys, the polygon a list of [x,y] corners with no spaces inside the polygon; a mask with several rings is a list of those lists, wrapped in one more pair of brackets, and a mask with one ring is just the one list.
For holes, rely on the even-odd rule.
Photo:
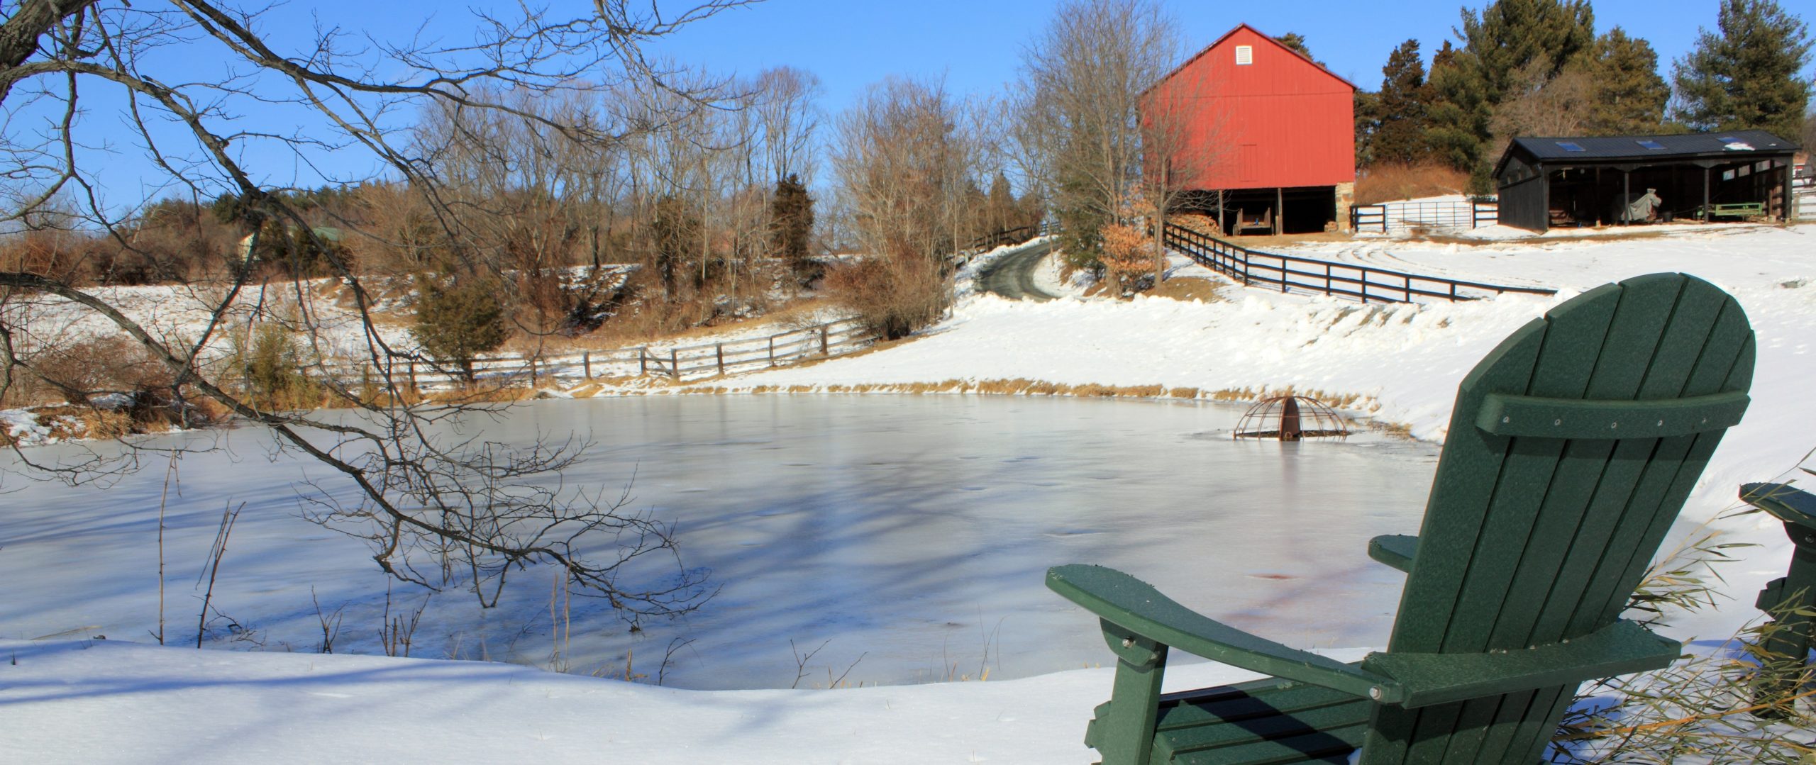
{"label": "slatted green seat of the large foreground Adirondack chair", "polygon": [[[1097,720],[1108,707],[1097,707]],[[1164,694],[1151,761],[1346,763],[1369,709],[1366,698],[1275,678]],[[1097,720],[1084,734],[1090,747]]]}

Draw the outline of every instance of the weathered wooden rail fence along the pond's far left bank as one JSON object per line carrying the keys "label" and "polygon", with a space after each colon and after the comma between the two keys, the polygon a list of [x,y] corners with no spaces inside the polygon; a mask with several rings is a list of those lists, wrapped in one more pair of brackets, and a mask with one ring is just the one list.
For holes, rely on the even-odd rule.
{"label": "weathered wooden rail fence along the pond's far left bank", "polygon": [[[810,358],[832,358],[868,347],[875,340],[859,320],[837,320],[786,333],[728,340],[719,343],[619,347],[567,354],[487,356],[472,363],[474,378],[501,385],[538,385],[543,380],[592,380],[596,376],[665,376],[670,380],[703,374],[730,374],[759,367],[783,367]],[[323,363],[316,374],[358,382],[378,369],[365,363]],[[454,365],[429,360],[396,360],[394,380],[410,387],[447,387],[459,382]]]}

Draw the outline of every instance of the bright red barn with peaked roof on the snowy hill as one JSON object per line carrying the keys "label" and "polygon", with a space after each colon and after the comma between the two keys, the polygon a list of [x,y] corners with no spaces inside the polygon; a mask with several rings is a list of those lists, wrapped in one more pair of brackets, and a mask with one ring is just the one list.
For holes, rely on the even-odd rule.
{"label": "bright red barn with peaked roof on the snowy hill", "polygon": [[1347,229],[1355,91],[1242,24],[1150,87],[1142,120],[1171,185],[1191,189],[1177,209],[1215,214],[1229,233]]}

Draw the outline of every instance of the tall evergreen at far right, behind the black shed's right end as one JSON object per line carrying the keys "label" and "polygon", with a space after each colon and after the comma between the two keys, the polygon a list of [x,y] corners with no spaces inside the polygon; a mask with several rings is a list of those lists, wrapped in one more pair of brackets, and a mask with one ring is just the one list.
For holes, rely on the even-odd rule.
{"label": "tall evergreen at far right, behind the black shed's right end", "polygon": [[1803,20],[1772,0],[1723,0],[1720,35],[1707,29],[1676,62],[1673,116],[1696,129],[1762,129],[1794,138],[1803,125],[1811,42]]}

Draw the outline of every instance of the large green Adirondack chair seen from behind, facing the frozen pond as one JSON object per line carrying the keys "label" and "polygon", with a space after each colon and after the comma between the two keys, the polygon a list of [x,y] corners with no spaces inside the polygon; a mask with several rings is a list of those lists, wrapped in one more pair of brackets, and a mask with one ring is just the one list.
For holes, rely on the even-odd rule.
{"label": "large green Adirondack chair seen from behind, facing the frozen pond", "polygon": [[[1386,652],[1340,663],[1222,625],[1095,565],[1050,569],[1100,618],[1111,700],[1086,730],[1124,763],[1522,763],[1576,687],[1682,645],[1618,620],[1752,380],[1734,298],[1649,274],[1584,293],[1464,378]],[[1358,551],[1360,552],[1360,551]],[[1215,552],[1213,552],[1215,554]],[[1168,649],[1269,674],[1160,694]]]}

